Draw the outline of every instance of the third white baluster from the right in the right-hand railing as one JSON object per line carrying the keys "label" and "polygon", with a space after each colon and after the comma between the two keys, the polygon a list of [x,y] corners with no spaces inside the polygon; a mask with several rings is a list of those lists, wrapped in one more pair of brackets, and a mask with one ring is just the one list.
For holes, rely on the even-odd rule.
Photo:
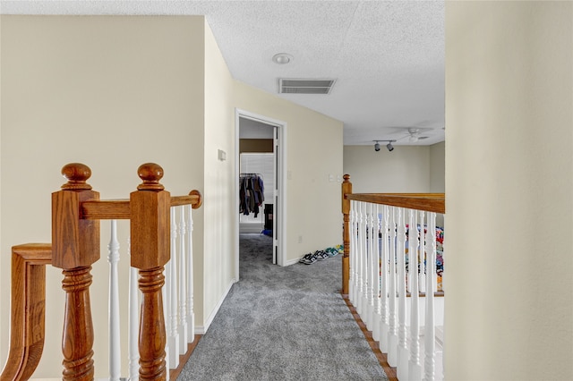
{"label": "third white baluster from the right in the right-hand railing", "polygon": [[408,379],[408,345],[406,328],[406,210],[398,207],[398,379]]}

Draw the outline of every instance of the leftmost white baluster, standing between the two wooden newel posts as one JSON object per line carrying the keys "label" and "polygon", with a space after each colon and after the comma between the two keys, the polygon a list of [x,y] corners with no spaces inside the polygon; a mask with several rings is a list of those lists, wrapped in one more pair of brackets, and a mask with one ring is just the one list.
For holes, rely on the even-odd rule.
{"label": "leftmost white baluster, standing between the two wooden newel posts", "polygon": [[109,379],[119,381],[122,371],[121,346],[119,336],[119,280],[117,262],[119,262],[119,242],[117,241],[117,221],[111,220],[111,238],[107,245],[109,262]]}

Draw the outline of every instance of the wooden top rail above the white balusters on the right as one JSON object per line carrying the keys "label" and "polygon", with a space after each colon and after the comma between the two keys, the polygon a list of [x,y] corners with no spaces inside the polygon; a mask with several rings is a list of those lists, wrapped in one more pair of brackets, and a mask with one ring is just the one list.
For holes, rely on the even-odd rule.
{"label": "wooden top rail above the white balusters on the right", "polygon": [[391,207],[407,207],[427,212],[446,213],[444,193],[346,193],[344,198]]}

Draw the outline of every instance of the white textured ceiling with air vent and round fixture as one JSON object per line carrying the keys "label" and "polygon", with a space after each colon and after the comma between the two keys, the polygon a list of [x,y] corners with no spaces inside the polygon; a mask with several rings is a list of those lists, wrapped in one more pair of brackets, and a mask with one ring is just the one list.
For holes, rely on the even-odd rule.
{"label": "white textured ceiling with air vent and round fixture", "polygon": [[[444,140],[443,1],[19,0],[0,13],[202,14],[236,80],[344,122],[345,145]],[[292,62],[273,63],[281,52]],[[329,95],[279,95],[279,78],[337,81]]]}

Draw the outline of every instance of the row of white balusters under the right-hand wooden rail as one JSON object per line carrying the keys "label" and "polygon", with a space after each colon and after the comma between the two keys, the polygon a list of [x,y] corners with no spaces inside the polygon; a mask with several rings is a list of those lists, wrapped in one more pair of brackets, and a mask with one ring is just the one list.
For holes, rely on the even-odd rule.
{"label": "row of white balusters under the right-hand wooden rail", "polygon": [[436,213],[355,200],[350,205],[349,300],[399,380],[442,379],[436,326],[443,323],[434,298]]}

